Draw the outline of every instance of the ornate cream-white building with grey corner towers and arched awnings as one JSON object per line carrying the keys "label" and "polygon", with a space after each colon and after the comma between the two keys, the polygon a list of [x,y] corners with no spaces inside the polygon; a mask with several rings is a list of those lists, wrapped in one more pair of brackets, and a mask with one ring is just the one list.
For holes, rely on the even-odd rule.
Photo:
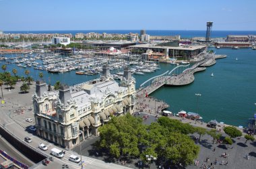
{"label": "ornate cream-white building with grey corner towers and arched awnings", "polygon": [[61,86],[59,91],[49,91],[44,81],[37,81],[33,105],[37,135],[72,148],[90,135],[98,135],[98,127],[110,115],[133,113],[135,78],[125,68],[119,85],[104,66],[100,78],[73,87]]}

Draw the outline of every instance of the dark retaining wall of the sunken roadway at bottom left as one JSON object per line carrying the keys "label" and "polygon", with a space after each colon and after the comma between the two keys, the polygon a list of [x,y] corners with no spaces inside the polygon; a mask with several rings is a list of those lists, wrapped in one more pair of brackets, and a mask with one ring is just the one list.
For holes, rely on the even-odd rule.
{"label": "dark retaining wall of the sunken roadway at bottom left", "polygon": [[38,150],[28,146],[18,137],[7,131],[2,125],[0,125],[0,134],[4,137],[13,147],[22,152],[24,156],[32,160],[32,162],[38,163],[45,158],[47,158],[46,154],[42,154]]}

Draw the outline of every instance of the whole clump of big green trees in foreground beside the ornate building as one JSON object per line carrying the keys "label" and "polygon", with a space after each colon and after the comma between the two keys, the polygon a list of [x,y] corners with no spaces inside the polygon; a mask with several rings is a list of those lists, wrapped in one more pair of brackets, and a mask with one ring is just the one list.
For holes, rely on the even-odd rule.
{"label": "whole clump of big green trees in foreground beside the ornate building", "polygon": [[155,123],[143,125],[141,118],[127,113],[112,117],[99,131],[100,146],[116,158],[133,156],[147,162],[148,155],[161,162],[172,161],[173,164],[187,166],[199,154],[199,146],[187,135],[195,129],[168,117],[160,117]]}

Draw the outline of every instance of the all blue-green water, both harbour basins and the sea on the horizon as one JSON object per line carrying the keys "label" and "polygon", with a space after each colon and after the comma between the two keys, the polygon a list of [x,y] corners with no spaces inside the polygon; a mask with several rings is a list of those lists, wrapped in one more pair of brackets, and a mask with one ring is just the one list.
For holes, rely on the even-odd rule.
{"label": "all blue-green water, both harbour basins and the sea on the horizon", "polygon": [[[30,33],[53,32],[55,31]],[[75,32],[82,31],[56,31],[55,33],[75,34]],[[84,32],[97,31],[90,30]],[[113,32],[117,34],[125,34],[127,32],[136,33],[134,30],[112,30],[109,32],[102,30],[98,32]],[[172,34],[170,34],[170,32],[172,32]],[[159,33],[158,31],[154,31],[152,35],[177,35],[179,32],[182,37],[187,38],[205,36],[205,32],[203,31],[159,31]],[[137,30],[137,33],[139,33],[139,30]],[[150,30],[147,30],[147,34],[150,34]],[[212,36],[218,38],[224,38],[228,34],[248,35],[256,34],[256,32],[212,32]],[[168,103],[168,105],[170,105],[168,111],[172,111],[173,113],[178,113],[181,110],[187,112],[191,111],[199,113],[205,122],[216,119],[219,122],[222,121],[229,125],[243,125],[247,127],[248,119],[253,117],[254,113],[256,113],[256,50],[252,50],[251,48],[239,48],[238,50],[231,48],[209,48],[209,50],[214,50],[216,54],[226,54],[227,57],[218,59],[216,64],[207,67],[203,72],[196,72],[194,74],[195,80],[193,83],[183,87],[161,87],[152,93],[151,96]],[[11,57],[13,55],[8,54],[5,56]],[[3,64],[5,64],[5,62],[0,62],[0,66]],[[138,89],[141,83],[152,76],[157,76],[167,70],[172,70],[174,67],[175,66],[172,64],[160,63],[160,70],[156,70],[154,73],[145,75],[133,74],[136,79],[136,88]],[[43,72],[44,80],[52,85],[55,84],[57,80],[65,84],[74,85],[100,76],[99,74],[95,76],[77,75],[75,74],[75,70],[63,74],[51,74],[44,70],[20,68],[15,64],[7,64],[7,71],[11,72],[13,68],[18,70],[18,75],[20,76],[25,76],[24,71],[30,70],[30,76],[34,79],[39,79],[39,72]],[[177,70],[176,73],[182,72],[183,70],[184,68],[181,68]],[[0,71],[3,72],[3,70]],[[214,76],[211,76],[211,74],[214,74]],[[195,94],[201,94],[201,96]]]}

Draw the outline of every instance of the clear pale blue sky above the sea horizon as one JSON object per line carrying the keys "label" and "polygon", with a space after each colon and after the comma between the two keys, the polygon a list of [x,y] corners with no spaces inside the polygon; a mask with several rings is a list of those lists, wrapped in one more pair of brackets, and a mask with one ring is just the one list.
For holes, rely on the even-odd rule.
{"label": "clear pale blue sky above the sea horizon", "polygon": [[0,30],[256,30],[255,0],[0,0]]}

